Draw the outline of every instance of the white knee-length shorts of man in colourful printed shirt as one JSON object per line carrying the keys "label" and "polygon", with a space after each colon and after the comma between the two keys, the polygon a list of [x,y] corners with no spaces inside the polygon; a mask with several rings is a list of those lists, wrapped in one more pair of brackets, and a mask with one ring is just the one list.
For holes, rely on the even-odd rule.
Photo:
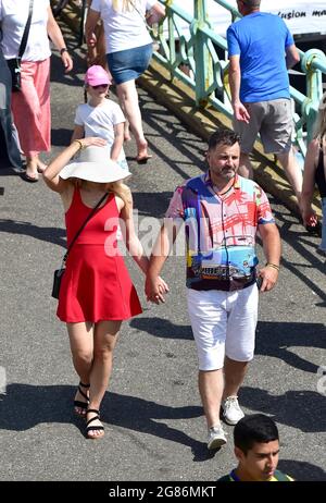
{"label": "white knee-length shorts of man in colourful printed shirt", "polygon": [[188,289],[188,311],[199,370],[223,368],[225,355],[236,361],[253,358],[258,296],[255,283],[235,292]]}

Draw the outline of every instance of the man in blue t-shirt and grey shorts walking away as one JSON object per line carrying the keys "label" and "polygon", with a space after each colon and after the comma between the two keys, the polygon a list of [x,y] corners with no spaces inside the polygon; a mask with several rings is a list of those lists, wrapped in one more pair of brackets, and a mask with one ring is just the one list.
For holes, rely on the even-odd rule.
{"label": "man in blue t-shirt and grey shorts walking away", "polygon": [[287,70],[300,61],[293,37],[261,0],[238,0],[243,17],[227,29],[234,127],[241,136],[239,174],[252,177],[249,155],[260,133],[265,154],[275,154],[300,204],[302,173],[291,146],[292,109]]}

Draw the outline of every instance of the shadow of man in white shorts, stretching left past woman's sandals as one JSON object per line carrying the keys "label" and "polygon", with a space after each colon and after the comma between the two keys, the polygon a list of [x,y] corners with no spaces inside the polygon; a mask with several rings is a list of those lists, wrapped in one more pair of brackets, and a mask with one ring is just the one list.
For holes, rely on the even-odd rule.
{"label": "shadow of man in white shorts, stretching left past woman's sandals", "polygon": [[[71,385],[8,384],[5,394],[0,394],[0,429],[24,431],[41,422],[73,422],[85,434],[85,421],[73,413],[75,392],[76,388]],[[189,446],[195,461],[208,459],[215,453],[208,452],[205,443],[161,420],[191,419],[202,414],[202,408],[198,406],[170,407],[111,392],[105,394],[101,407],[104,424]]]}

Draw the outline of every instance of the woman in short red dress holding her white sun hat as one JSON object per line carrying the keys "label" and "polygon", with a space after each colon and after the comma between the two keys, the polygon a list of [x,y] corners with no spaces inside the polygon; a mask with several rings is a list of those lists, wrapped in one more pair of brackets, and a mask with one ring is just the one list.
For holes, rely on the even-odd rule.
{"label": "woman in short red dress holding her white sun hat", "polygon": [[[47,185],[62,198],[67,246],[91,209],[108,194],[72,246],[57,311],[66,322],[73,364],[80,379],[75,412],[86,417],[86,433],[90,439],[104,434],[99,410],[122,321],[141,312],[117,248],[118,228],[143,273],[149,263],[135,233],[131,193],[122,182],[130,173],[110,160],[105,143],[95,137],[73,142],[43,174]],[[77,152],[78,158],[68,163]],[[161,287],[162,292],[167,291],[163,280]]]}

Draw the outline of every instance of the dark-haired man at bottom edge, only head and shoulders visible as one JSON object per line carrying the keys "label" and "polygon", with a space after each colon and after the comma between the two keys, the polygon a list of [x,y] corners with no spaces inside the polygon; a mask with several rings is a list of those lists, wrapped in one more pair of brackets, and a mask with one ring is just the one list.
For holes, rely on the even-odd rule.
{"label": "dark-haired man at bottom edge, only head and shoulders visible", "polygon": [[274,420],[264,414],[252,414],[234,429],[235,455],[238,466],[217,482],[292,482],[277,469],[279,435]]}

